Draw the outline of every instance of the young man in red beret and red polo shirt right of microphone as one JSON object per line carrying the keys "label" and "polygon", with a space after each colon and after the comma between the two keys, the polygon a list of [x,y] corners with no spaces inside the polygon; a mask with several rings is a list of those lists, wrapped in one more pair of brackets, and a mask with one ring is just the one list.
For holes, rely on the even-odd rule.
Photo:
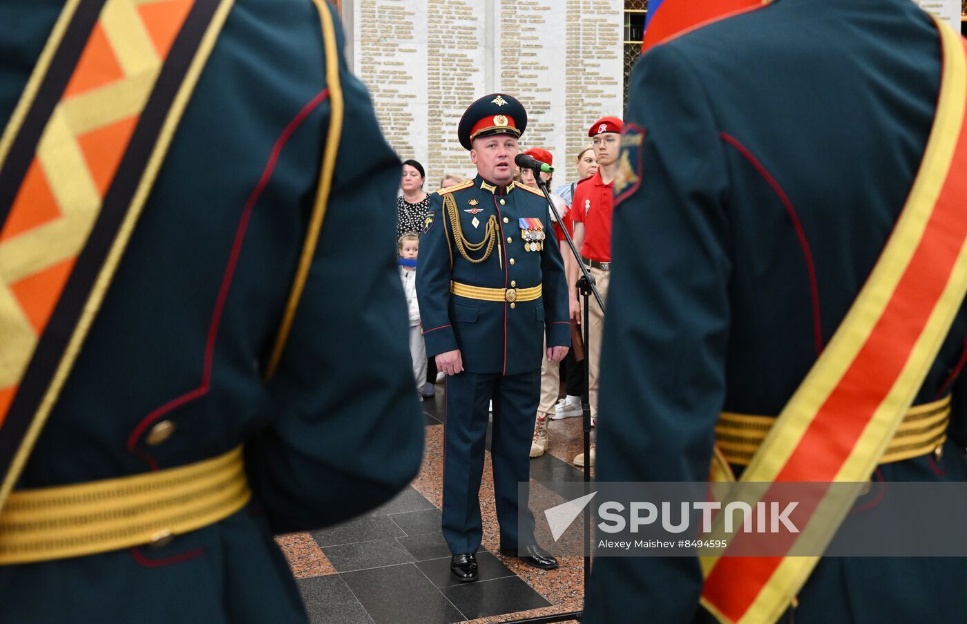
{"label": "young man in red beret and red polo shirt right of microphone", "polygon": [[[571,203],[574,222],[574,246],[581,253],[581,261],[595,279],[602,302],[607,305],[608,282],[611,278],[611,202],[612,185],[618,172],[618,149],[621,145],[622,121],[617,117],[602,117],[588,130],[595,150],[598,169],[577,183]],[[578,314],[580,314],[578,309]],[[592,422],[598,424],[598,389],[601,367],[601,330],[604,311],[593,300],[588,309],[588,344],[585,365],[588,367],[588,396]],[[583,466],[584,454],[574,458],[574,465]],[[595,446],[591,447],[588,465],[595,465]]]}

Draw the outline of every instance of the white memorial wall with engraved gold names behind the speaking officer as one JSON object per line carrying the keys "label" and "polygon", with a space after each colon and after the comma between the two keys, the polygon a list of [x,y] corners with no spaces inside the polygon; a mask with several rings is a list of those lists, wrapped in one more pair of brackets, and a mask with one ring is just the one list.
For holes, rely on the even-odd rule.
{"label": "white memorial wall with engraved gold names behind the speaking officer", "polygon": [[622,115],[623,9],[624,0],[357,0],[350,56],[400,158],[424,163],[428,191],[444,173],[473,174],[456,125],[494,92],[524,104],[521,145],[550,150],[563,183],[592,122]]}

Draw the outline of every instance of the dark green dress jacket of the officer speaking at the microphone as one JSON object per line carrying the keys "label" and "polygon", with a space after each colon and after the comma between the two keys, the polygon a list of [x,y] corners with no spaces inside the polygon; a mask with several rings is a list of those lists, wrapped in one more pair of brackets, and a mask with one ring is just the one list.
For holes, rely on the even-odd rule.
{"label": "dark green dress jacket of the officer speaking at the microphone", "polygon": [[[493,191],[484,189],[484,184]],[[421,238],[417,297],[426,354],[458,348],[463,368],[469,372],[515,374],[540,369],[545,335],[547,346],[571,345],[564,261],[547,202],[533,189],[513,183],[495,187],[479,175],[472,185],[457,188],[431,195],[428,229]],[[450,217],[443,212],[441,193],[453,195],[463,236],[471,244],[484,240],[486,223],[491,216],[497,218],[497,240],[484,262],[470,262],[459,253]],[[521,235],[521,219],[541,223],[542,251],[524,251],[527,241]],[[483,254],[483,250],[469,252],[474,259]],[[484,288],[542,284],[543,294],[533,301],[514,302],[512,307],[510,302],[452,295],[452,280]]]}

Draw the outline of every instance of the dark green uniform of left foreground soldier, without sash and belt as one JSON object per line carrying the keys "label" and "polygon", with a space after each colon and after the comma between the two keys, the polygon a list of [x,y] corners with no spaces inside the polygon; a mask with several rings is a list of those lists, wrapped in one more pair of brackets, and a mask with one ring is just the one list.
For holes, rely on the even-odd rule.
{"label": "dark green uniform of left foreground soldier, without sash and belt", "polygon": [[[61,8],[0,5],[0,123]],[[361,514],[419,469],[387,213],[400,165],[364,86],[327,58],[343,47],[337,22],[325,2],[235,2],[17,484],[150,475],[244,444],[251,501],[152,545],[2,566],[0,621],[306,621],[273,535]],[[327,157],[336,174],[320,179]],[[318,244],[266,380],[322,185]],[[0,543],[10,528],[0,516]]]}

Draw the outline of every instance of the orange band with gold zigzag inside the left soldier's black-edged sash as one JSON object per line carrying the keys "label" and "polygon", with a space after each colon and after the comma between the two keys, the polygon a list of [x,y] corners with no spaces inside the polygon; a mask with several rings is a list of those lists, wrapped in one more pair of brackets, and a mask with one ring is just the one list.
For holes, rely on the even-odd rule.
{"label": "orange band with gold zigzag inside the left soldier's black-edged sash", "polygon": [[[0,230],[0,424],[192,5],[107,0],[44,128]],[[4,157],[21,119],[0,141]]]}

